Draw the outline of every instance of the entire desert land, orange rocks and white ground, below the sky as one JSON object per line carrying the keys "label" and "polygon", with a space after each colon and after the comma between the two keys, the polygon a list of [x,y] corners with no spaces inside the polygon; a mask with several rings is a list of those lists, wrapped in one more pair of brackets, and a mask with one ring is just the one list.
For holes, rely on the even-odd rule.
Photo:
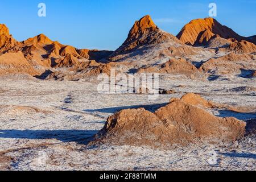
{"label": "entire desert land, orange rocks and white ground, below the sky", "polygon": [[[157,97],[99,92],[113,69],[159,75]],[[256,169],[256,35],[216,19],[175,36],[146,15],[115,51],[18,42],[0,24],[0,81],[1,170]]]}

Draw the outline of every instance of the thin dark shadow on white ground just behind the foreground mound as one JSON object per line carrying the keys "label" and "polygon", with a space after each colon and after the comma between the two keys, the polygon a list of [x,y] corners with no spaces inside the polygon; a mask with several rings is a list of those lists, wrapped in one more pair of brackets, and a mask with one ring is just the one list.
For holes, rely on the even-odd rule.
{"label": "thin dark shadow on white ground just behind the foreground mound", "polygon": [[164,104],[153,104],[153,105],[134,105],[134,106],[120,106],[120,107],[106,107],[102,109],[85,109],[83,111],[93,113],[93,112],[100,112],[100,113],[111,113],[114,114],[117,111],[123,110],[123,109],[138,109],[138,108],[144,108],[148,111],[155,112],[160,107],[166,106],[168,103]]}

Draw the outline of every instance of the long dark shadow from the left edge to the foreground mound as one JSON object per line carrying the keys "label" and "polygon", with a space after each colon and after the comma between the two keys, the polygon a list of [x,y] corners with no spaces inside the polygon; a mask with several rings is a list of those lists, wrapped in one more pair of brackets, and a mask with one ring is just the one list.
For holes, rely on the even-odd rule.
{"label": "long dark shadow from the left edge to the foreground mound", "polygon": [[57,139],[86,144],[97,133],[97,130],[0,130],[0,138]]}

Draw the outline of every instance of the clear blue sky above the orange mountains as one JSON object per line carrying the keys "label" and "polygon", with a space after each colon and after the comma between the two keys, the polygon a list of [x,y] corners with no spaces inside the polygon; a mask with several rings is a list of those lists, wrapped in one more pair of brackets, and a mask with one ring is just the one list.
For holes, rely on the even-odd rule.
{"label": "clear blue sky above the orange mountains", "polygon": [[[47,9],[40,18],[41,2]],[[19,41],[43,33],[77,48],[114,50],[144,15],[176,35],[190,20],[209,16],[211,2],[217,4],[221,24],[243,36],[256,34],[256,0],[1,0],[0,23]]]}

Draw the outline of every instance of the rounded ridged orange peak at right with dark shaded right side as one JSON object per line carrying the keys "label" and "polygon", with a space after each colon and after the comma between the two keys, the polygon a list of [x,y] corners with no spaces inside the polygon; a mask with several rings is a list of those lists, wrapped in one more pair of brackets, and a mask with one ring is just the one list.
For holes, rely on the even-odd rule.
{"label": "rounded ridged orange peak at right with dark shaded right side", "polygon": [[216,35],[224,39],[234,38],[238,41],[244,39],[231,28],[222,26],[222,24],[213,18],[192,20],[181,29],[177,38],[185,44],[199,46],[207,43]]}

